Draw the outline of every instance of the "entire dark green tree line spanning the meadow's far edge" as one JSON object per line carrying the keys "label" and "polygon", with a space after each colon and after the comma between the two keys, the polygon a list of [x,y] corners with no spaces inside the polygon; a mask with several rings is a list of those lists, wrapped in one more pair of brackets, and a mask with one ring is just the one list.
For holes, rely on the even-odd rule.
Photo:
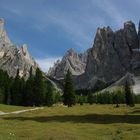
{"label": "entire dark green tree line spanning the meadow's far edge", "polygon": [[113,92],[96,92],[85,90],[76,94],[70,70],[65,76],[63,93],[54,89],[50,81],[46,80],[42,71],[36,69],[35,74],[30,69],[29,78],[25,81],[20,78],[19,70],[16,77],[9,77],[7,72],[0,70],[0,103],[22,106],[52,106],[62,103],[71,107],[76,103],[89,104],[127,104],[134,106],[140,103],[140,95],[132,92],[129,82],[126,81],[123,90]]}

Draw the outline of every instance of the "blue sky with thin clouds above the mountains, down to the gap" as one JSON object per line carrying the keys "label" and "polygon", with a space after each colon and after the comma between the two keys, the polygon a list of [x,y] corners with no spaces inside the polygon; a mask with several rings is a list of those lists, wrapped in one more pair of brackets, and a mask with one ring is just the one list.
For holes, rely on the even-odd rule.
{"label": "blue sky with thin clouds above the mountains, down to the gap", "polygon": [[140,20],[139,0],[0,0],[0,17],[12,42],[26,43],[47,71],[69,48],[92,47],[96,29]]}

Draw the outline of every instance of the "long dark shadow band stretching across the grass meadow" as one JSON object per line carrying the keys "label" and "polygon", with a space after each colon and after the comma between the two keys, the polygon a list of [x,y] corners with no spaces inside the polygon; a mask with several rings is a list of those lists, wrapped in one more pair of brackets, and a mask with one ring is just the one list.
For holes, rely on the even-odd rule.
{"label": "long dark shadow band stretching across the grass meadow", "polygon": [[35,116],[35,117],[4,117],[5,120],[36,121],[36,122],[72,122],[72,123],[129,123],[140,124],[140,115],[111,115],[111,114],[87,114],[64,116]]}

